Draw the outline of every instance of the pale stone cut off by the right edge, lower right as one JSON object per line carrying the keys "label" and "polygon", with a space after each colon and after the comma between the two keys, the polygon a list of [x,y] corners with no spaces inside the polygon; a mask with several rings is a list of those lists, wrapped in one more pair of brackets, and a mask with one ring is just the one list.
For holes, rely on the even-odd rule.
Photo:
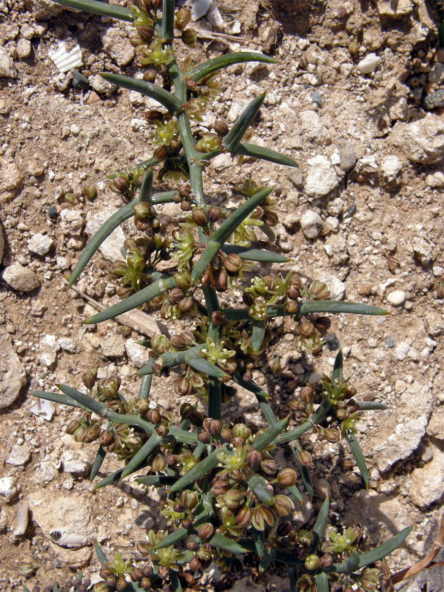
{"label": "pale stone cut off by the right edge, lower right", "polygon": [[433,458],[411,474],[410,499],[415,506],[425,508],[438,501],[444,492],[444,451],[441,446],[429,444]]}

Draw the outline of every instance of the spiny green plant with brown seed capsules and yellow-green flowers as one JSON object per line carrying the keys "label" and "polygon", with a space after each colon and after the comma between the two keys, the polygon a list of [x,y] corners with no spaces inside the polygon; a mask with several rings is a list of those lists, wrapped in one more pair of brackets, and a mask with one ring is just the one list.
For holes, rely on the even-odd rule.
{"label": "spiny green plant with brown seed capsules and yellow-green flowers", "polygon": [[[275,60],[237,52],[198,65],[188,56],[179,64],[173,40],[193,47],[197,33],[188,26],[189,8],[176,11],[174,0],[137,0],[130,8],[96,0],[60,4],[131,22],[130,42],[143,79],[102,76],[159,103],[159,110],[145,113],[153,127],[153,157],[110,175],[110,189],[124,205],[92,237],[69,285],[107,236],[134,217],[140,236],[125,240],[124,258],[109,270],[122,300],[84,322],[101,323],[139,307],[160,308],[172,326],[180,318],[189,323],[189,329],[171,336],[155,333],[143,342],[148,362],[137,372],[140,389],[131,398],[121,394],[120,378],[96,381],[91,371],[83,374],[81,391],[60,384],[61,394],[33,393],[79,409],[78,419],[66,432],[77,442],[99,442],[91,480],[108,454],[121,460],[122,467],[95,488],[137,473],[143,487],[165,491],[160,514],[166,528],[149,530],[137,544],[144,561],[136,567],[120,552],[107,558],[96,545],[102,580],[92,589],[179,592],[207,590],[211,584],[214,590],[228,590],[234,574],[247,570],[260,583],[279,563],[288,568],[290,590],[384,589],[380,561],[403,542],[410,527],[371,548],[363,525],[328,529],[325,535],[329,498],[310,529],[298,529],[291,513],[303,503],[297,482],[313,497],[308,469],[313,459],[300,437],[311,432],[333,444],[345,439],[368,485],[356,420],[365,410],[385,406],[366,397],[359,400],[356,388],[343,376],[341,351],[332,374],[301,388],[284,417],[275,416],[272,393],[259,386],[255,375],[276,317],[291,320],[295,346],[316,351],[330,328],[326,314],[386,312],[329,300],[324,282],[305,285],[292,271],[253,275],[256,262],[288,262],[272,250],[255,247],[259,233],[269,240],[274,237],[278,216],[273,189],[252,179],[240,181],[236,191],[241,203],[231,208],[216,205],[202,184],[206,163],[221,153],[239,163],[249,156],[297,166],[288,156],[248,141],[265,93],[252,99],[231,128],[221,120],[212,133],[200,127],[217,93],[220,70],[235,63]],[[170,189],[155,192],[155,180]],[[185,221],[157,213],[156,206],[165,203],[176,204],[178,218],[185,216]],[[242,290],[242,302],[236,308],[222,306],[218,295],[234,287]],[[195,403],[183,403],[178,413],[163,413],[156,406],[153,379],[169,376],[173,368],[176,394],[194,397]],[[255,395],[263,414],[260,425],[248,423],[242,415],[227,419],[236,385]],[[281,446],[292,453],[294,466],[280,466],[274,459]],[[213,582],[207,572],[212,563],[223,572]],[[91,589],[91,581],[82,582],[81,577],[74,584],[77,590]]]}

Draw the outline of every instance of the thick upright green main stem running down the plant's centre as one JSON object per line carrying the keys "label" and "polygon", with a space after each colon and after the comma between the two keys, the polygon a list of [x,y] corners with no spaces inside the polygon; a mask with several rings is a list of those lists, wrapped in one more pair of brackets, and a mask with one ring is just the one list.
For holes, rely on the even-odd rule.
{"label": "thick upright green main stem running down the plant's centre", "polygon": [[[174,0],[163,0],[162,4],[162,33],[165,34],[165,38],[171,38],[174,27]],[[171,43],[168,44],[168,49],[173,50]],[[181,101],[181,104],[186,103],[186,82],[184,74],[177,65],[174,59],[168,66],[168,71],[173,79],[174,95]],[[177,115],[179,136],[181,137],[182,146],[184,146],[186,162],[188,163],[189,169],[189,182],[191,185],[191,191],[195,195],[198,205],[206,208],[205,196],[204,196],[204,185],[202,182],[202,165],[198,162],[198,153],[195,149],[194,139],[192,136],[191,125],[189,123],[188,115],[185,111],[182,111]],[[207,242],[204,231],[201,227],[198,229],[199,240],[201,243]],[[211,321],[211,315],[215,310],[220,310],[217,293],[214,288],[209,286],[202,287],[204,292],[205,305],[208,311],[208,337],[211,340],[217,342],[220,338],[220,331]],[[213,419],[221,419],[222,408],[221,408],[221,384],[217,378],[211,378],[210,384],[208,385],[208,416]]]}

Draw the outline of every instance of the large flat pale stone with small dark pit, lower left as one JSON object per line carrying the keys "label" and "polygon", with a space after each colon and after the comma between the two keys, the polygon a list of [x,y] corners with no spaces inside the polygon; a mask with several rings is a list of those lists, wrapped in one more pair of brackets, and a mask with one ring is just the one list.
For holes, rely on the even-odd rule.
{"label": "large flat pale stone with small dark pit, lower left", "polygon": [[64,547],[83,547],[94,542],[91,511],[83,497],[52,491],[48,503],[47,493],[37,490],[29,501],[34,522],[51,542]]}

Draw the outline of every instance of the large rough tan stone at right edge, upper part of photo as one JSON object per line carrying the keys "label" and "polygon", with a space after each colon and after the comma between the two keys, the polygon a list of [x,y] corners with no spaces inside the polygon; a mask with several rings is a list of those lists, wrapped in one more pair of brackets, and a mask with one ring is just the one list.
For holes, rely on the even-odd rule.
{"label": "large rough tan stone at right edge, upper part of photo", "polygon": [[396,123],[389,139],[408,160],[422,165],[441,163],[444,156],[444,121],[434,114],[413,123]]}

